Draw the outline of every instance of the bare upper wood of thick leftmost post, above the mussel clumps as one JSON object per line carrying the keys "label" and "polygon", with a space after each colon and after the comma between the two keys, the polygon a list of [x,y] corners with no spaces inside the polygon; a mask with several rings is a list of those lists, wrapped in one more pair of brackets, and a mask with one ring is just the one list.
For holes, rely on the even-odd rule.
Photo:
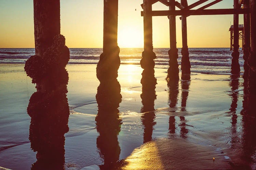
{"label": "bare upper wood of thick leftmost post, above the mussel clumps", "polygon": [[42,56],[60,34],[60,1],[34,0],[35,55]]}

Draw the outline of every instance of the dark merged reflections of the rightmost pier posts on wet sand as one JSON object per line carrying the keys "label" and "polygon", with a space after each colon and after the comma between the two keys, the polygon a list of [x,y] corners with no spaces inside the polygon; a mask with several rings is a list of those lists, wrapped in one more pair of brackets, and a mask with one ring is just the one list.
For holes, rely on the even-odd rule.
{"label": "dark merged reflections of the rightmost pier posts on wet sand", "polygon": [[[238,88],[239,88],[239,75],[231,75],[230,87],[232,90],[231,98],[231,149],[235,152],[232,154],[231,166],[234,169],[255,169],[256,168],[256,114],[252,111],[250,103],[250,93],[248,92],[248,81],[245,78],[243,82],[243,101],[241,125],[237,124],[237,102],[238,102]],[[239,129],[241,129],[239,131]],[[239,132],[238,132],[239,131]]]}

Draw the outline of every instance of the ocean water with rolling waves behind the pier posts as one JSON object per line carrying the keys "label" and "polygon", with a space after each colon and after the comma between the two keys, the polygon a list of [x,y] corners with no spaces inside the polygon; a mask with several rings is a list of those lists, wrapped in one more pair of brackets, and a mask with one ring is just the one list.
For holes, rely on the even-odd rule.
{"label": "ocean water with rolling waves behind the pier posts", "polygon": [[[178,63],[181,64],[181,48]],[[168,68],[168,48],[155,48],[155,68]],[[139,65],[143,48],[121,48],[121,64]],[[102,48],[70,48],[69,64],[97,64]],[[229,48],[189,48],[191,71],[207,74],[230,74],[232,51]],[[0,63],[24,64],[35,54],[34,48],[0,48]],[[243,72],[243,51],[239,63]]]}

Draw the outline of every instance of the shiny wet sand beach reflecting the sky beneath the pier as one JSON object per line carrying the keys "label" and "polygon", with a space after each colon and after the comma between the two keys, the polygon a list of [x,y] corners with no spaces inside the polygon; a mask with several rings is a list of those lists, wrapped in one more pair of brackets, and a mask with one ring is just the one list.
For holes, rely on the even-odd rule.
{"label": "shiny wet sand beach reflecting the sky beneath the pier", "polygon": [[[37,160],[26,112],[35,85],[23,68],[0,65],[0,167],[9,169],[30,169]],[[119,111],[96,119],[96,65],[69,64],[67,70],[66,169],[256,168],[256,118],[243,113],[241,76],[191,73],[167,86],[167,70],[156,68],[155,92],[143,98],[140,66],[121,65]],[[108,131],[100,126],[104,120]]]}

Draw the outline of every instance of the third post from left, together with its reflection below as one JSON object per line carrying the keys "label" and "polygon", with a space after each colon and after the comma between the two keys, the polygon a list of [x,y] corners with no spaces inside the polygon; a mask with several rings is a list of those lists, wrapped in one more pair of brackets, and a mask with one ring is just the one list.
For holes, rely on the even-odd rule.
{"label": "third post from left, together with its reflection below", "polygon": [[[153,52],[153,33],[152,33],[152,3],[151,0],[143,0],[143,24],[144,24],[144,51],[140,61],[142,72],[142,104],[141,121],[144,126],[143,143],[148,142],[152,138],[153,126],[156,124],[154,101],[156,99],[156,78],[155,78],[155,62],[156,54]],[[146,112],[146,113],[145,113]]]}

